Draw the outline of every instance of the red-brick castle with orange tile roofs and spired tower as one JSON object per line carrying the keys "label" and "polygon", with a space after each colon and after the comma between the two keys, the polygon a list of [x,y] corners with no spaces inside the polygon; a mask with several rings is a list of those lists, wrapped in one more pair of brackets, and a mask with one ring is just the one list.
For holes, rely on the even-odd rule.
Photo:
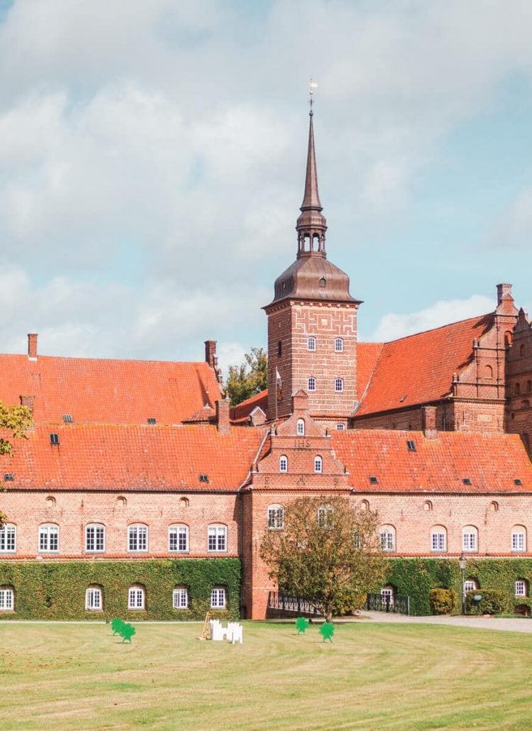
{"label": "red-brick castle with orange tile roofs and spired tower", "polygon": [[232,409],[214,341],[204,363],[42,356],[34,333],[0,355],[0,399],[34,414],[0,458],[4,617],[263,618],[262,536],[295,497],[338,493],[378,512],[390,556],[504,559],[528,593],[511,562],[532,557],[532,330],[512,287],[491,313],[358,342],[312,112],[296,230],[264,308],[268,388]]}

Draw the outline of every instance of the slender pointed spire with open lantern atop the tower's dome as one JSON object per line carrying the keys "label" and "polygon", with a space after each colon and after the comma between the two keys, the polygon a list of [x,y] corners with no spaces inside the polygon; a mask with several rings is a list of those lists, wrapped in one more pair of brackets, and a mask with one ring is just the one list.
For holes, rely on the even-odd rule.
{"label": "slender pointed spire with open lantern atop the tower's dome", "polygon": [[301,204],[301,215],[297,219],[297,258],[327,257],[325,252],[325,231],[327,220],[322,214],[322,203],[319,200],[318,173],[316,170],[316,151],[314,150],[314,112],[309,114],[307,172],[305,176],[305,194]]}

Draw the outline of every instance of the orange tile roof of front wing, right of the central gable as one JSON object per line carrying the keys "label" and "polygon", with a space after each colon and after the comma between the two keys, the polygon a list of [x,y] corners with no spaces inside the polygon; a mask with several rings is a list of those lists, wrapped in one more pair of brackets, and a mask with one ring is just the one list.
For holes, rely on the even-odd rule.
{"label": "orange tile roof of front wing, right of the central gable", "polygon": [[[532,463],[518,434],[442,431],[436,439],[425,439],[420,431],[357,429],[333,431],[332,439],[356,491],[532,492]],[[415,452],[408,450],[407,440],[414,442]],[[379,482],[372,484],[370,477]],[[471,485],[464,484],[465,478]]]}

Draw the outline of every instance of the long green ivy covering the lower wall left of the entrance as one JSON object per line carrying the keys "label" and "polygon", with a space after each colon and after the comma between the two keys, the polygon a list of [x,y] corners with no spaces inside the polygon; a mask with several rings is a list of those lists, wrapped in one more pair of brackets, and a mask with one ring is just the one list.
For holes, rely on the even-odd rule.
{"label": "long green ivy covering the lower wall left of the entrance", "polygon": [[[87,611],[86,589],[103,589],[103,612]],[[128,588],[145,587],[145,610],[128,610]],[[0,562],[0,586],[15,588],[15,612],[1,619],[92,619],[126,621],[203,619],[210,610],[210,590],[225,586],[227,609],[213,613],[237,619],[240,605],[238,558],[181,558],[146,561]],[[175,586],[189,590],[189,608],[172,607]]]}

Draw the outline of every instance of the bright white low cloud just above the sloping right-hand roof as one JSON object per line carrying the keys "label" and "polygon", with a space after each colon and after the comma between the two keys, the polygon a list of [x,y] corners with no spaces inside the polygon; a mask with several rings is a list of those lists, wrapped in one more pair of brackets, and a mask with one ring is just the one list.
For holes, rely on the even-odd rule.
{"label": "bright white low cloud just above the sloping right-hand roof", "polygon": [[449,322],[476,317],[493,312],[495,303],[483,295],[472,295],[466,300],[440,300],[419,312],[396,314],[390,312],[381,318],[372,341],[387,342],[404,338],[413,333],[422,333],[433,327],[448,325]]}

